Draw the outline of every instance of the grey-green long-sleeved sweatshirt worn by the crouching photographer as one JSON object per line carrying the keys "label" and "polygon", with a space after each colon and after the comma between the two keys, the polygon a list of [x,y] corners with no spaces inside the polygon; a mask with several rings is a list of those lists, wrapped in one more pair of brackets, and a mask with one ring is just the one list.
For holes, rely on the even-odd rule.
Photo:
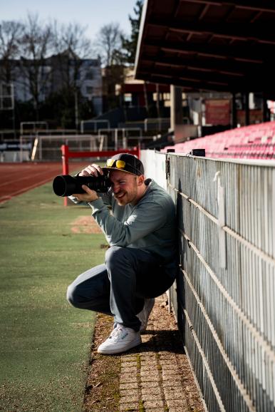
{"label": "grey-green long-sleeved sweatshirt worn by the crouching photographer", "polygon": [[110,246],[142,249],[157,255],[160,264],[174,267],[177,261],[175,204],[155,181],[147,179],[145,183],[148,188],[137,205],[118,205],[112,190],[88,205]]}

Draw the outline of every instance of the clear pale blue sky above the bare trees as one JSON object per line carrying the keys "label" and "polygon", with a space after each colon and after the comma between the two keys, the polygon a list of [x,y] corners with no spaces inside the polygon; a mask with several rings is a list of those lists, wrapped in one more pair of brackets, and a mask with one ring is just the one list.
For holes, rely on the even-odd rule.
{"label": "clear pale blue sky above the bare trees", "polygon": [[44,21],[86,26],[85,34],[93,41],[100,28],[110,23],[119,23],[120,29],[130,34],[128,16],[135,16],[135,4],[136,0],[0,0],[0,21],[38,14]]}

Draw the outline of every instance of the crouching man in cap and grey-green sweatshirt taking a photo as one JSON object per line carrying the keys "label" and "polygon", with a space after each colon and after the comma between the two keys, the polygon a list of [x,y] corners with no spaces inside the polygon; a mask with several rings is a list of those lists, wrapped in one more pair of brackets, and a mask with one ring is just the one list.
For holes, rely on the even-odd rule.
{"label": "crouching man in cap and grey-green sweatshirt taking a photo", "polygon": [[172,198],[156,182],[145,180],[135,156],[120,153],[105,167],[89,165],[79,175],[103,173],[111,182],[107,194],[98,197],[83,185],[85,193],[71,199],[91,207],[110,248],[105,264],[78,276],[67,298],[74,307],[114,316],[114,329],[98,353],[118,354],[141,343],[154,298],[175,280],[177,229]]}

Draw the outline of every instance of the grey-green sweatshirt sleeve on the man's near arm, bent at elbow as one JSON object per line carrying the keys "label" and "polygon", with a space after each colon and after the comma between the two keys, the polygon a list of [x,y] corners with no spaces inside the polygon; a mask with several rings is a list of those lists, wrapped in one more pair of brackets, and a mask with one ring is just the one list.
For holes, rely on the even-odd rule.
{"label": "grey-green sweatshirt sleeve on the man's near arm, bent at elbow", "polygon": [[113,217],[101,199],[90,202],[92,215],[104,232],[110,246],[127,247],[146,235],[155,232],[167,220],[165,208],[156,202],[142,202],[133,209],[125,222]]}

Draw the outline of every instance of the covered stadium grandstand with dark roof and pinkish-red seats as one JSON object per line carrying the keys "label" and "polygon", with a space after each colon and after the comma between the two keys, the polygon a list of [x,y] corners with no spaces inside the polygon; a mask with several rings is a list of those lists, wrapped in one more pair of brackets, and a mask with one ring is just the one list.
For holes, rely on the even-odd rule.
{"label": "covered stadium grandstand with dark roof and pinkish-red seats", "polygon": [[[275,38],[270,31],[274,16],[274,3],[271,1],[261,4],[244,0],[172,0],[169,4],[155,0],[145,2],[137,46],[135,77],[170,85],[171,129],[175,134],[175,143],[197,137],[186,135],[185,128],[182,127],[182,93],[187,96],[202,96],[208,93],[207,98],[220,93],[220,98],[224,99],[222,96],[230,93],[230,119],[226,122],[226,128],[233,128],[234,131],[231,130],[229,134],[219,133],[211,136],[209,140],[204,140],[204,145],[214,145],[207,147],[207,153],[213,153],[214,157],[217,157],[217,153],[222,157],[229,157],[231,153],[232,157],[239,158],[246,156],[240,153],[250,153],[252,149],[251,156],[254,156],[259,149],[259,157],[264,158],[263,152],[266,152],[267,148],[258,147],[258,143],[272,143],[270,139],[265,141],[270,138],[266,136],[266,129],[270,128],[273,135],[272,124],[259,123],[271,120],[269,102],[275,100],[275,90],[271,86],[275,68],[271,56],[274,55]],[[261,96],[261,115],[257,119],[249,105],[251,93]],[[257,123],[254,128],[237,130],[240,124],[237,96],[242,99],[242,125]],[[217,127],[222,124],[225,125],[216,123]],[[267,132],[269,133],[269,130]],[[250,133],[253,136],[247,138]],[[223,147],[222,141],[227,138],[230,138],[230,143]],[[221,139],[219,147],[216,139]],[[164,147],[165,142],[156,142],[156,147],[158,143],[161,143],[161,148]],[[196,148],[200,143],[200,139],[193,140],[190,146]],[[255,146],[252,147],[252,144]],[[167,142],[167,145],[170,143]],[[240,145],[245,146],[239,147]],[[185,149],[187,146],[190,147],[187,143],[184,146],[177,145],[175,150]],[[271,150],[271,147],[269,149]],[[249,155],[249,158],[251,156]],[[271,158],[270,152],[266,158]]]}

